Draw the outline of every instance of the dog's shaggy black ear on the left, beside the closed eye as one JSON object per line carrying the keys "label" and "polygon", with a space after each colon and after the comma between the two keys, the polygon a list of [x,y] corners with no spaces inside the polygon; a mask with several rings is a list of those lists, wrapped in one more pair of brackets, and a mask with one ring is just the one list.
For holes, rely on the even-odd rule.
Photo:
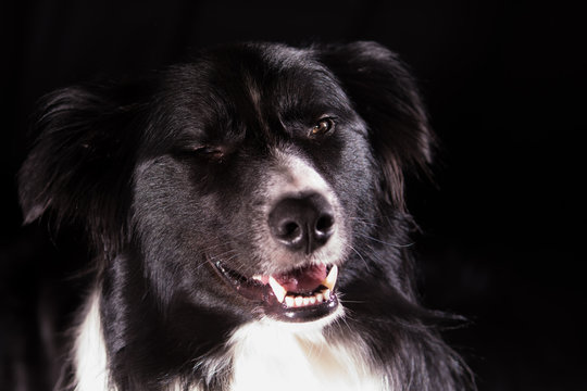
{"label": "dog's shaggy black ear on the left, beside the closed eye", "polygon": [[34,123],[38,137],[18,173],[25,224],[50,212],[58,225],[83,223],[100,244],[109,241],[105,232],[121,231],[134,160],[122,146],[135,140],[138,108],[122,86],[66,88],[43,98]]}

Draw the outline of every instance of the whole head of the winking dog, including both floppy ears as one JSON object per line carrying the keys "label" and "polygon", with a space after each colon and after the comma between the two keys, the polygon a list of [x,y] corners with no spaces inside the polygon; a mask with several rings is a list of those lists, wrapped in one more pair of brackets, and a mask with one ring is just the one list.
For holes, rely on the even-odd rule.
{"label": "whole head of the winking dog, including both floppy ears", "polygon": [[409,73],[371,42],[218,48],[138,85],[60,90],[38,126],[27,223],[83,223],[101,267],[139,260],[161,303],[286,321],[339,313],[432,138]]}

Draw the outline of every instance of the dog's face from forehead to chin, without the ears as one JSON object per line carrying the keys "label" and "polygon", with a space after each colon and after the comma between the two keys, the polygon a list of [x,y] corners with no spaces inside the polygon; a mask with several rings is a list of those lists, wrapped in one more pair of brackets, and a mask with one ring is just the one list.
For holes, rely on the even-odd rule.
{"label": "dog's face from forehead to chin, without the ears", "polygon": [[373,213],[367,129],[310,52],[247,49],[174,70],[134,173],[133,225],[151,273],[199,302],[323,317]]}

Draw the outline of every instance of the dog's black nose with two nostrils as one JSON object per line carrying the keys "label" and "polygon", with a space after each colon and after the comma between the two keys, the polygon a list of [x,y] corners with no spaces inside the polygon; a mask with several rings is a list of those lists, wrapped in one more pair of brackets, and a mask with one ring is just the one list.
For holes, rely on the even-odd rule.
{"label": "dog's black nose with two nostrils", "polygon": [[319,193],[284,198],[268,215],[271,234],[290,251],[307,254],[324,245],[334,232],[330,203]]}

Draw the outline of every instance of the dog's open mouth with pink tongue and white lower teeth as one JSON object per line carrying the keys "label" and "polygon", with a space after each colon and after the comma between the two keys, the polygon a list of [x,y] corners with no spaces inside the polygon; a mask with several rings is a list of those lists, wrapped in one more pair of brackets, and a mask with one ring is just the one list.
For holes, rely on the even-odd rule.
{"label": "dog's open mouth with pink tongue and white lower teeth", "polygon": [[338,307],[336,265],[308,265],[276,275],[245,277],[222,262],[211,262],[238,294],[263,305],[264,313],[284,321],[312,321]]}

